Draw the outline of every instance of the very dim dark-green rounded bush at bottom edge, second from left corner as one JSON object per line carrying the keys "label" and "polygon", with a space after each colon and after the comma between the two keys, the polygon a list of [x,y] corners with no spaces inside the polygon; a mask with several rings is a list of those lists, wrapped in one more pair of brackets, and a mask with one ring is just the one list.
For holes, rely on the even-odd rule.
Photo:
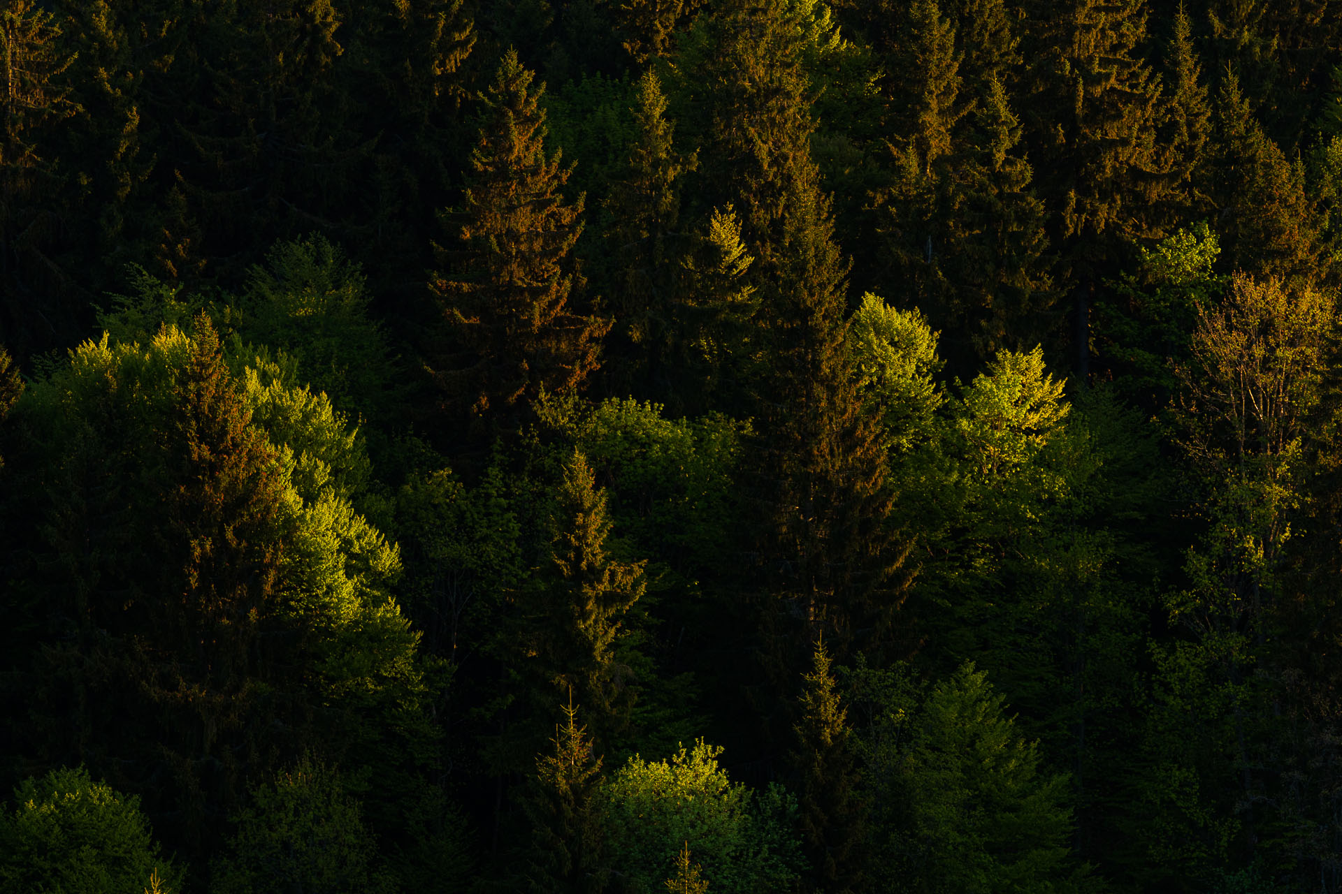
{"label": "very dim dark-green rounded bush at bottom edge, second from left corner", "polygon": [[234,818],[228,852],[211,875],[216,894],[396,890],[358,802],[334,771],[310,757],[251,791],[251,803]]}

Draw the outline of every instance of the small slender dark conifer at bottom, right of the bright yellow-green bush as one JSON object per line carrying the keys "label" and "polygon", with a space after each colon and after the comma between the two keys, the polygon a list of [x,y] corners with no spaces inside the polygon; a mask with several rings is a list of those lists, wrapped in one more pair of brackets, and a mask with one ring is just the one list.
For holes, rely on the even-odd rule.
{"label": "small slender dark conifer at bottom, right of the bright yellow-green bush", "polygon": [[811,851],[812,885],[832,894],[862,890],[866,816],[858,793],[860,779],[849,745],[848,712],[839,700],[824,642],[816,642],[812,670],[803,680],[793,764],[801,781],[801,827]]}

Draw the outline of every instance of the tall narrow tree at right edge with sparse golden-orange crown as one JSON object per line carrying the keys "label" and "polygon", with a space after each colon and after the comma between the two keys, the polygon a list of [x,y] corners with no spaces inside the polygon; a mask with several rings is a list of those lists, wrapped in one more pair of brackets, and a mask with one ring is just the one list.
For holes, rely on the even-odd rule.
{"label": "tall narrow tree at right edge with sparse golden-orange crown", "polygon": [[[1189,359],[1177,367],[1177,442],[1198,484],[1204,529],[1185,558],[1186,588],[1166,594],[1186,635],[1157,653],[1147,781],[1151,862],[1174,874],[1244,862],[1280,822],[1268,720],[1290,672],[1271,639],[1296,599],[1291,551],[1308,513],[1315,432],[1329,377],[1333,299],[1307,285],[1232,277],[1198,307]],[[1271,772],[1264,772],[1271,771]]]}

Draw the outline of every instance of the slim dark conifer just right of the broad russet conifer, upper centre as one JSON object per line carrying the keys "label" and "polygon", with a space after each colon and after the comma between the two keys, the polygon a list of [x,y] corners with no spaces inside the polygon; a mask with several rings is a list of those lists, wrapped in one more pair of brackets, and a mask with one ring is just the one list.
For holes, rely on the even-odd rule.
{"label": "slim dark conifer just right of the broad russet conifer, upper centre", "polygon": [[[687,240],[676,229],[680,181],[696,159],[675,151],[667,99],[651,70],[639,79],[636,103],[637,139],[627,176],[605,200],[611,221],[604,236],[617,277],[611,290],[616,340],[608,348],[608,379],[619,393],[666,399],[674,389],[667,366],[679,340],[674,304],[684,292],[678,261]],[[631,389],[635,382],[639,387]]]}

